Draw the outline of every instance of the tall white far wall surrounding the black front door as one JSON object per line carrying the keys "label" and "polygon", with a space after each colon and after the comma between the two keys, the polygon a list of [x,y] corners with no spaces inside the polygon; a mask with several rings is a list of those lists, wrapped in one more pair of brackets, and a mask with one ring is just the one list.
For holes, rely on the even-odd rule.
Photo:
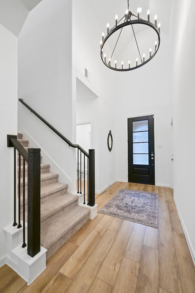
{"label": "tall white far wall surrounding the black front door", "polygon": [[[115,100],[115,119],[118,180],[128,180],[127,118],[155,114],[155,185],[170,185],[170,63],[168,47],[168,35],[161,33],[159,50],[150,62],[136,70],[117,72],[118,91]],[[162,145],[162,148],[158,148],[158,145]]]}

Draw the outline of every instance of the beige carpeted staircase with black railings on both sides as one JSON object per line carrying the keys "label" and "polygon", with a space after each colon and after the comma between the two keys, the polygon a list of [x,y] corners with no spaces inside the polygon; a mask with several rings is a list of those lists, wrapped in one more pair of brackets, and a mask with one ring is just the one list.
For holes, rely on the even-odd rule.
{"label": "beige carpeted staircase with black railings on both sides", "polygon": [[[29,141],[23,140],[23,134],[18,133],[18,141],[26,150],[28,149]],[[69,194],[67,192],[68,184],[58,182],[59,175],[50,173],[49,170],[50,165],[43,164],[41,156],[41,246],[48,250],[46,259],[53,255],[90,218],[90,209],[78,205],[78,195]],[[24,172],[26,174],[25,185],[27,185],[27,165],[25,165]],[[22,187],[23,163],[21,162],[21,195]],[[27,186],[25,190],[25,205],[27,205]],[[21,207],[22,205],[21,196]],[[27,219],[27,214],[25,219]]]}

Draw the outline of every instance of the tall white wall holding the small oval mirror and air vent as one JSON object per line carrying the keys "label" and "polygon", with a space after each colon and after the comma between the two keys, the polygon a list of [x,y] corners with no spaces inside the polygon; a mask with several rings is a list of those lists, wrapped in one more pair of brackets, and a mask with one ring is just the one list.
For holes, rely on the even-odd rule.
{"label": "tall white wall holding the small oval mirror and air vent", "polygon": [[[109,71],[100,58],[102,31],[96,22],[87,0],[73,1],[73,87],[79,78],[98,98],[76,103],[75,123],[92,121],[92,140],[95,149],[95,191],[101,193],[116,178],[115,132],[115,72]],[[91,74],[91,82],[84,77],[84,67]],[[108,151],[109,130],[113,135],[113,149]],[[75,129],[76,132],[76,129]],[[111,176],[112,174],[112,176]]]}

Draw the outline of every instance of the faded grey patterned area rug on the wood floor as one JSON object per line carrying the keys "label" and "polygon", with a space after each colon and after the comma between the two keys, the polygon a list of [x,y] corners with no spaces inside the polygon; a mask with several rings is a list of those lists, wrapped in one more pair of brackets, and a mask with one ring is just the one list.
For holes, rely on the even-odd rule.
{"label": "faded grey patterned area rug on the wood floor", "polygon": [[158,228],[158,194],[122,188],[99,213]]}

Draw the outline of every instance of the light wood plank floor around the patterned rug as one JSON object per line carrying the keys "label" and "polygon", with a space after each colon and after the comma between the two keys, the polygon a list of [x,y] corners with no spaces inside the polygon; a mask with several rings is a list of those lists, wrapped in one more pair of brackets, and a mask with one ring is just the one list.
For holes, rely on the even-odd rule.
{"label": "light wood plank floor around the patterned rug", "polygon": [[120,188],[158,193],[158,229],[98,213],[47,261],[31,285],[2,266],[0,292],[195,293],[195,267],[172,190],[116,182],[96,195],[98,209]]}

